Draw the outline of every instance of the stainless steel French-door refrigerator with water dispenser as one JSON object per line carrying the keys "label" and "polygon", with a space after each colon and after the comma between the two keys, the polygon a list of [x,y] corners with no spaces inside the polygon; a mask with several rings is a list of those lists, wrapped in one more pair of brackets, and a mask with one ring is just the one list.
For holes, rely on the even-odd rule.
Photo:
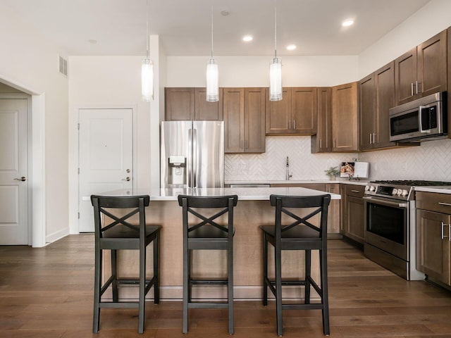
{"label": "stainless steel French-door refrigerator with water dispenser", "polygon": [[161,188],[224,186],[223,121],[161,122]]}

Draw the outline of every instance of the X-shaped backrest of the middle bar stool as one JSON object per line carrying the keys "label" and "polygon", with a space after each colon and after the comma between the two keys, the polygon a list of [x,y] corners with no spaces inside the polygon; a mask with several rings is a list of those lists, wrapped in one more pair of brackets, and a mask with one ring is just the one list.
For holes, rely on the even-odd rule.
{"label": "X-shaped backrest of the middle bar stool", "polygon": [[[238,196],[178,196],[178,205],[183,208],[183,234],[187,237],[188,232],[199,229],[204,225],[212,225],[223,232],[228,232],[228,237],[233,236],[233,208],[237,205]],[[196,210],[194,210],[196,208]],[[206,215],[202,209],[220,208],[214,215]],[[228,213],[228,227],[218,224],[215,220]],[[190,224],[189,214],[196,216],[197,223]],[[186,233],[185,233],[186,232]]]}

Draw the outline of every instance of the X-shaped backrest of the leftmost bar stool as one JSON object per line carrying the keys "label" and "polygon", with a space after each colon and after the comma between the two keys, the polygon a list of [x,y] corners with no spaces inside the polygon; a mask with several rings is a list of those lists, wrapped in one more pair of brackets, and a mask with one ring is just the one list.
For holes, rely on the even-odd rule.
{"label": "X-shaped backrest of the leftmost bar stool", "polygon": [[[145,207],[149,206],[150,197],[149,195],[142,196],[91,196],[91,203],[94,207],[94,227],[96,240],[102,238],[103,232],[110,230],[112,227],[125,226],[130,229],[136,230],[137,237],[143,239],[146,237],[146,214]],[[131,208],[126,215],[117,216],[110,213],[107,209],[125,209]],[[130,218],[133,215],[139,214],[139,225],[134,225],[130,223]],[[102,216],[107,216],[108,218],[103,218]],[[108,220],[109,223],[106,223]]]}

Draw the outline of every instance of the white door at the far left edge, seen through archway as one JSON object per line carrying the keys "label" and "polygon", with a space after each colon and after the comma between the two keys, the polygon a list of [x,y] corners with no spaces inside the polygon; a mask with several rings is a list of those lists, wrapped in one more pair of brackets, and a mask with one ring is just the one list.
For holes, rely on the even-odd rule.
{"label": "white door at the far left edge, seen through archway", "polygon": [[0,245],[28,245],[27,99],[0,99]]}

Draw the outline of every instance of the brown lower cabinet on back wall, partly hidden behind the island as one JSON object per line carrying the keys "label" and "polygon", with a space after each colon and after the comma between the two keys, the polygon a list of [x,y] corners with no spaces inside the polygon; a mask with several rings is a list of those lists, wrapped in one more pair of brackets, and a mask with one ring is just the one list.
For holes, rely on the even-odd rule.
{"label": "brown lower cabinet on back wall, partly hidden behind the island", "polygon": [[[332,194],[340,194],[340,184],[338,183],[280,183],[271,184],[271,187],[301,187],[319,190],[321,192],[330,192]],[[340,199],[330,201],[328,209],[328,237],[340,237]],[[336,236],[338,235],[338,236]]]}

